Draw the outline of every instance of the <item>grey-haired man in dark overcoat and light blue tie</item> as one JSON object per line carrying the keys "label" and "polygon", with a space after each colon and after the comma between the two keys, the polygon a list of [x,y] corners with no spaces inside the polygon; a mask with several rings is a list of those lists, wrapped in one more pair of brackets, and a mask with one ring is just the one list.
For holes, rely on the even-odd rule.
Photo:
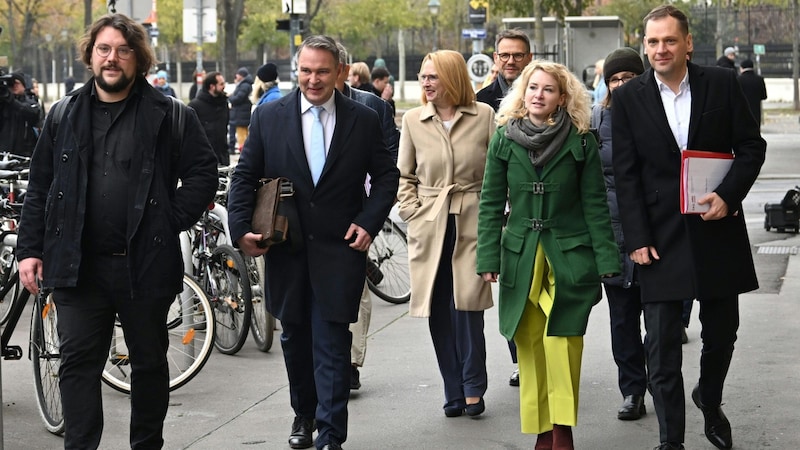
{"label": "grey-haired man in dark overcoat and light blue tie", "polygon": [[[399,172],[375,111],[336,91],[342,70],[336,42],[309,37],[297,61],[299,90],[253,113],[231,181],[229,223],[234,242],[246,254],[266,253],[267,306],[281,321],[296,416],[289,445],[311,447],[316,426],[317,448],[339,449],[347,438],[348,326],[356,321],[364,287],[364,252],[389,213]],[[315,115],[322,136],[315,132],[320,126]],[[318,174],[314,156],[322,150],[320,140],[326,156]],[[289,178],[297,212],[289,240],[268,252],[250,227],[254,189],[262,177]]]}

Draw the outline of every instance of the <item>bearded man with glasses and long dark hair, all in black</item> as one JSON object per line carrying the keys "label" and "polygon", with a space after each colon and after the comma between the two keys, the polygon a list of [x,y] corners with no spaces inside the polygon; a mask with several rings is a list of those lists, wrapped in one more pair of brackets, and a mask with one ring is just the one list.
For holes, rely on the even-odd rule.
{"label": "bearded man with glasses and long dark hair, all in black", "polygon": [[46,118],[31,161],[17,257],[25,288],[52,288],[58,308],[67,449],[100,445],[116,317],[132,370],[130,446],[163,447],[166,316],[183,284],[178,235],[217,189],[217,159],[194,111],[177,105],[184,125],[173,136],[173,100],[145,79],[156,62],[149,40],[121,14],[88,28],[79,51],[93,78],[61,100],[57,124]]}

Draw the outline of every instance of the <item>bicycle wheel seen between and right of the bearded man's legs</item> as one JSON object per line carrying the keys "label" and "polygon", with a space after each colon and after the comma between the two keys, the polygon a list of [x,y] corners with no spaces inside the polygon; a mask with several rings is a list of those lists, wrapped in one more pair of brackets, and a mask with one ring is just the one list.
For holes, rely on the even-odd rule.
{"label": "bicycle wheel seen between and right of the bearded man's legs", "polygon": [[[194,378],[211,355],[214,341],[211,303],[189,275],[183,276],[183,291],[167,312],[167,364],[169,390],[174,391]],[[131,393],[131,367],[122,326],[117,321],[103,382],[125,394]]]}

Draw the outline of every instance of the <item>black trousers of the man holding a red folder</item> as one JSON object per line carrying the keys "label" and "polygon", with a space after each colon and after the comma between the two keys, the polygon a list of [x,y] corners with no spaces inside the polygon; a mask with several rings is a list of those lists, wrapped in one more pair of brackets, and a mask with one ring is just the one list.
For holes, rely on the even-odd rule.
{"label": "black trousers of the man holding a red folder", "polygon": [[[698,302],[703,340],[700,401],[705,406],[716,407],[722,403],[722,390],[739,329],[739,298],[698,299]],[[647,369],[661,442],[684,442],[686,405],[681,372],[682,311],[682,299],[644,303]]]}

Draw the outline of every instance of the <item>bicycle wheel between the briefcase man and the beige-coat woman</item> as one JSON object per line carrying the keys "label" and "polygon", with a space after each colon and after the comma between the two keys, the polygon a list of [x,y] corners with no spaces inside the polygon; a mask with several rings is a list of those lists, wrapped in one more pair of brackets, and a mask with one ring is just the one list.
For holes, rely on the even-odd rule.
{"label": "bicycle wheel between the briefcase man and the beige-coat woman", "polygon": [[408,240],[390,218],[369,246],[367,284],[370,291],[389,303],[398,305],[411,298]]}

